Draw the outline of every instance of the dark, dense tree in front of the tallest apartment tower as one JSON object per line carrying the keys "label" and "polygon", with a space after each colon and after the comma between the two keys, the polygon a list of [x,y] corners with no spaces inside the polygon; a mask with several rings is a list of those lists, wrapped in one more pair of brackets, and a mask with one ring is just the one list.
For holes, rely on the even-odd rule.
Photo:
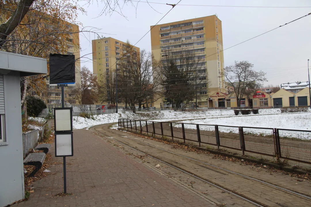
{"label": "dark, dense tree in front of the tallest apartment tower", "polygon": [[173,108],[185,109],[186,103],[207,94],[208,78],[204,56],[193,52],[166,53],[161,65],[161,84],[165,99]]}

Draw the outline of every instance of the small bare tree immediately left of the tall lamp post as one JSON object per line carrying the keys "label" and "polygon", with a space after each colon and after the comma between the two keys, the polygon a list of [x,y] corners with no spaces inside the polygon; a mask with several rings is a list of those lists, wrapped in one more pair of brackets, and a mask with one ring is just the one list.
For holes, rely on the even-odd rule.
{"label": "small bare tree immediately left of the tall lamp post", "polygon": [[99,100],[103,102],[116,103],[116,73],[109,71],[106,79],[99,83]]}

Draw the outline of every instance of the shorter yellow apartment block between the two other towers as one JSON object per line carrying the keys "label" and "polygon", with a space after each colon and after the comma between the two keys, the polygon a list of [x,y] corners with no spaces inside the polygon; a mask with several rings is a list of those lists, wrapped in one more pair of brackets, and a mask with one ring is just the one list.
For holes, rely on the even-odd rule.
{"label": "shorter yellow apartment block between the two other towers", "polygon": [[[98,39],[92,40],[93,74],[97,75],[99,82],[106,81],[106,76],[102,74],[109,73],[109,70],[115,71],[116,61],[126,52],[126,46],[127,43],[112,37],[98,37]],[[133,47],[133,50],[140,51],[139,47]],[[119,107],[123,106],[121,102],[118,102],[118,104]]]}

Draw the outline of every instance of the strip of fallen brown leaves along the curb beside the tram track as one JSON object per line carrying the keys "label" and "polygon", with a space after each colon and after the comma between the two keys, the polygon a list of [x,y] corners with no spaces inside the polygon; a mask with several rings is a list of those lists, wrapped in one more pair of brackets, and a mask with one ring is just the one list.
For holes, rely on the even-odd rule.
{"label": "strip of fallen brown leaves along the curb beside the tram track", "polygon": [[161,143],[164,143],[164,144],[171,145],[172,149],[182,149],[184,151],[195,152],[197,154],[214,155],[213,159],[227,160],[227,161],[231,161],[231,162],[234,162],[234,163],[250,165],[250,166],[252,166],[251,168],[256,168],[257,167],[258,169],[266,169],[268,172],[270,172],[270,174],[272,174],[272,173],[282,173],[284,175],[289,175],[290,177],[298,178],[297,181],[299,181],[299,182],[302,182],[302,181],[305,181],[305,180],[309,180],[309,181],[311,180],[310,173],[299,174],[299,173],[293,173],[293,172],[286,172],[286,171],[283,171],[283,170],[280,170],[280,169],[275,169],[275,168],[273,168],[271,166],[268,166],[268,165],[257,164],[257,163],[249,162],[249,161],[246,161],[246,160],[240,160],[240,159],[234,158],[234,157],[226,157],[224,155],[213,154],[213,153],[211,153],[209,151],[206,151],[206,150],[201,150],[201,149],[198,149],[198,148],[193,147],[193,146],[184,145],[183,143],[172,142],[172,141],[165,141],[165,140],[162,140],[160,138],[148,137],[146,135],[136,134],[136,133],[132,133],[132,132],[128,132],[128,133],[133,134],[133,135],[135,135],[137,137],[142,137],[142,138],[145,138],[145,139],[150,139],[150,140],[154,140],[156,142],[161,142]]}

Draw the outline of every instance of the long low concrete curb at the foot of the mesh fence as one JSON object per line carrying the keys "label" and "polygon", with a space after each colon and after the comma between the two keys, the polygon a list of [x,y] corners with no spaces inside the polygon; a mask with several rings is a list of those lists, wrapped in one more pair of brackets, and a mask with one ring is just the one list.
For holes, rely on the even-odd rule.
{"label": "long low concrete curb at the foot of the mesh fence", "polygon": [[[127,131],[127,132],[131,132],[131,133],[134,133],[134,134],[140,134],[140,135],[143,135],[143,136],[146,136],[146,137],[152,137],[152,136],[150,136],[150,135],[141,134],[141,133],[135,133],[135,132],[132,132],[132,131],[128,131],[128,130],[126,130],[126,129],[120,129],[120,128],[118,128],[118,130]],[[223,155],[223,156],[226,156],[226,157],[234,157],[234,158],[237,158],[237,159],[240,159],[240,160],[243,159],[244,161],[248,161],[248,162],[252,162],[252,163],[256,163],[256,164],[267,165],[267,166],[270,166],[270,167],[272,167],[272,168],[280,169],[280,170],[283,170],[283,171],[289,172],[289,173],[311,174],[311,173],[308,172],[308,171],[305,171],[305,170],[302,170],[302,169],[296,169],[295,167],[282,166],[282,165],[279,165],[279,164],[276,164],[276,163],[266,162],[266,161],[262,161],[262,160],[256,160],[256,159],[249,158],[249,157],[245,157],[245,156],[242,156],[242,155],[233,155],[233,154],[231,154],[231,153],[222,152],[222,151],[218,151],[218,150],[206,149],[206,148],[199,147],[199,146],[193,146],[193,145],[189,145],[189,144],[174,142],[174,141],[171,141],[171,140],[162,139],[162,138],[160,138],[160,137],[152,137],[152,138],[160,139],[160,140],[167,141],[167,142],[178,143],[178,144],[185,145],[185,146],[195,147],[195,148],[197,148],[197,149],[209,151],[209,152],[211,152],[211,153],[213,153],[213,154],[217,154],[217,155]]]}

